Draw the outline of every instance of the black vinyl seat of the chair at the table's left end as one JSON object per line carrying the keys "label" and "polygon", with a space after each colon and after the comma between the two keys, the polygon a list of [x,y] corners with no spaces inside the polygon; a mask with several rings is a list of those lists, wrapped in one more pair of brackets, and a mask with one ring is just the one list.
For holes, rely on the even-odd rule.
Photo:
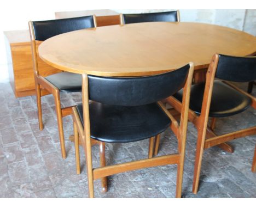
{"label": "black vinyl seat of the chair at the table's left end", "polygon": [[70,72],[60,72],[44,77],[47,81],[63,92],[82,91],[82,76]]}

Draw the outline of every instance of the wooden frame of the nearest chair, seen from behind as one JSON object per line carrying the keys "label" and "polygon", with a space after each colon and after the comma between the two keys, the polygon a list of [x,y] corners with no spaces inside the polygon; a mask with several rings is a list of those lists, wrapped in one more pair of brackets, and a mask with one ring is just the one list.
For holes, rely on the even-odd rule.
{"label": "wooden frame of the nearest chair, seen from behind", "polygon": [[[90,137],[90,118],[89,118],[89,94],[88,94],[88,75],[83,74],[82,90],[83,90],[83,118],[84,126],[82,125],[77,108],[73,107],[73,121],[74,121],[74,136],[75,136],[75,152],[78,173],[80,173],[79,164],[79,139],[82,140],[85,156],[86,166],[88,174],[88,185],[89,185],[89,197],[94,198],[94,180],[101,179],[103,191],[107,190],[107,176],[127,172],[130,170],[136,170],[140,168],[148,168],[155,166],[164,166],[167,164],[177,164],[177,187],[176,197],[181,198],[182,194],[182,180],[183,180],[183,165],[185,156],[185,142],[187,137],[187,124],[188,124],[188,111],[189,111],[189,98],[190,88],[193,79],[194,65],[190,63],[189,74],[187,81],[184,86],[183,103],[181,108],[181,122],[178,125],[176,119],[167,111],[162,102],[158,102],[159,106],[164,110],[167,116],[171,119],[171,129],[178,139],[178,153],[170,154],[165,156],[146,158],[143,160],[126,162],[122,164],[114,164],[106,166],[105,159],[105,144],[100,143],[100,165],[99,168],[92,168],[92,156],[91,156],[91,145],[92,139]],[[160,136],[156,136],[156,140],[159,140]],[[153,154],[155,138],[150,138],[149,142],[149,157]]]}

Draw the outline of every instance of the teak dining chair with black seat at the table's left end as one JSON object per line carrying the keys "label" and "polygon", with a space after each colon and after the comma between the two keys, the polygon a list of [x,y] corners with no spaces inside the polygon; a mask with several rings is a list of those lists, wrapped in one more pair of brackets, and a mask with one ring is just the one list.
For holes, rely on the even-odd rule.
{"label": "teak dining chair with black seat at the table's left end", "polygon": [[[30,21],[28,25],[30,28],[39,129],[43,130],[41,97],[49,93],[53,94],[57,114],[57,123],[59,128],[61,154],[62,158],[66,158],[62,118],[72,114],[72,106],[61,108],[60,91],[65,93],[82,91],[82,76],[69,72],[62,72],[60,70],[56,70],[55,68],[51,68],[49,65],[46,64],[44,64],[44,68],[39,68],[38,62],[40,62],[40,66],[42,66],[41,62],[43,63],[43,61],[39,58],[38,55],[38,45],[42,41],[55,35],[79,29],[96,27],[96,19],[95,16],[84,16],[59,20],[34,22]],[[48,76],[41,76],[40,71],[46,71]],[[40,88],[40,86],[42,86],[43,89]]]}

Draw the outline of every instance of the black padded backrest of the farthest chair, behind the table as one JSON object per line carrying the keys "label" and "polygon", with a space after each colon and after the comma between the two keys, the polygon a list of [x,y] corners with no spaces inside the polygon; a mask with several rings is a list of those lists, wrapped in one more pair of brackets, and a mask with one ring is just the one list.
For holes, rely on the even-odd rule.
{"label": "black padded backrest of the farthest chair, behind the table", "polygon": [[177,22],[177,11],[147,14],[123,14],[124,24],[137,22]]}

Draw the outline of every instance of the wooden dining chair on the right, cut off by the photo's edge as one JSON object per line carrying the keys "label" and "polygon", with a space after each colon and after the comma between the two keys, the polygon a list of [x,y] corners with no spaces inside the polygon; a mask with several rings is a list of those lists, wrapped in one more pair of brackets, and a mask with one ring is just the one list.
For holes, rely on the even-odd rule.
{"label": "wooden dining chair on the right, cut off by the photo's edge", "polygon": [[[214,80],[218,78],[219,80]],[[256,108],[256,98],[230,82],[256,79],[256,57],[232,57],[214,54],[206,73],[206,82],[191,86],[189,120],[197,128],[193,192],[197,193],[203,150],[230,140],[256,134],[256,126],[217,136],[207,126],[208,117],[223,118]],[[228,82],[230,81],[230,82]],[[181,105],[183,91],[169,99],[171,105]],[[207,138],[206,138],[207,137]],[[255,170],[255,156],[252,170]]]}

